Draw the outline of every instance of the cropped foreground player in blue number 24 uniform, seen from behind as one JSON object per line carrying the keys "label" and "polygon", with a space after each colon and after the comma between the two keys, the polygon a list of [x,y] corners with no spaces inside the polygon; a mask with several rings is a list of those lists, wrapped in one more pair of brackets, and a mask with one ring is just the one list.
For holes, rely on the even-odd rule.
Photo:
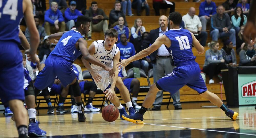
{"label": "cropped foreground player in blue number 24 uniform, seen from behind", "polygon": [[[23,106],[23,67],[20,45],[19,23],[24,16],[33,47],[26,49],[29,60],[36,61],[39,33],[33,20],[32,2],[30,0],[0,1],[0,98],[9,102],[13,111],[19,137],[27,137],[27,111]],[[13,73],[15,72],[15,73]],[[16,84],[13,87],[13,84]]]}

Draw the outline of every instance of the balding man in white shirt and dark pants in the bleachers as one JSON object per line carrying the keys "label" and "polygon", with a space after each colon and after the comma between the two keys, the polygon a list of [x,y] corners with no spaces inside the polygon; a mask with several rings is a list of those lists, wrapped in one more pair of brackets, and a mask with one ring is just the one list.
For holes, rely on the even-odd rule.
{"label": "balding man in white shirt and dark pants in the bleachers", "polygon": [[197,15],[195,15],[196,9],[191,7],[188,13],[182,16],[182,20],[185,23],[185,29],[192,32],[197,40],[200,40],[200,44],[205,46],[207,39],[207,32],[202,31],[202,23]]}

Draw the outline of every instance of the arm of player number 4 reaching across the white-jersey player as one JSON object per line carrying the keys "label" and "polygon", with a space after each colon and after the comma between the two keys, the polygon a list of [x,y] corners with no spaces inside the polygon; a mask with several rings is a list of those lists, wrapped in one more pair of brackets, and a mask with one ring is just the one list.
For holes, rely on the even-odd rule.
{"label": "arm of player number 4 reaching across the white-jersey player", "polygon": [[100,61],[95,59],[95,57],[90,55],[90,53],[87,49],[87,42],[83,38],[78,39],[78,44],[79,44],[79,49],[80,49],[80,51],[81,51],[85,60],[87,60],[88,62],[90,62],[94,65],[97,65],[97,66],[100,66],[100,67],[104,68],[106,71],[109,71],[110,76],[112,76],[114,74],[113,68],[105,66]]}

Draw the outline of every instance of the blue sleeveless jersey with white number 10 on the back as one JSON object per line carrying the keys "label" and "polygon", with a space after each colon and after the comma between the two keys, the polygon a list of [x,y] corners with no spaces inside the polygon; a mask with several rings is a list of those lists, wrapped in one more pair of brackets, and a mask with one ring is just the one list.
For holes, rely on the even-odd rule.
{"label": "blue sleeveless jersey with white number 10 on the back", "polygon": [[186,29],[170,29],[165,35],[171,40],[167,50],[172,55],[175,66],[186,65],[195,61],[192,53],[192,35]]}

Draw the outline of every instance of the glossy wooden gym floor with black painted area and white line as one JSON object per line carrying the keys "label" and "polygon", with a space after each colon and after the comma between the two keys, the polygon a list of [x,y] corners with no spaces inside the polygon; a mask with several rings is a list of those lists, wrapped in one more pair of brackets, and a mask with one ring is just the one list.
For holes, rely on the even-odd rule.
{"label": "glossy wooden gym floor with black painted area and white line", "polygon": [[[45,115],[40,110],[40,128],[47,137],[256,137],[256,112],[254,106],[231,108],[239,113],[232,121],[219,108],[202,108],[209,102],[182,103],[182,110],[164,109],[147,111],[143,125],[124,120],[106,122],[101,113],[86,113],[86,122],[78,122],[77,114]],[[192,109],[190,109],[192,107]],[[44,114],[44,115],[42,115]],[[14,121],[10,117],[0,117],[0,137],[17,137]]]}

